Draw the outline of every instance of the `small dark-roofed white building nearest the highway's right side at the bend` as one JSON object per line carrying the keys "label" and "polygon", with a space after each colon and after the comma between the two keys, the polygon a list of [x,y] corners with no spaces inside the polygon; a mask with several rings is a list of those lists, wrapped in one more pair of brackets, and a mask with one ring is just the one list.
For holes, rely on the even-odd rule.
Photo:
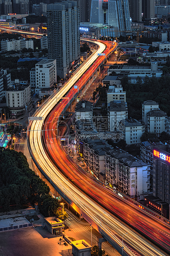
{"label": "small dark-roofed white building nearest the highway's right side at the bend", "polygon": [[93,104],[90,101],[79,101],[76,104],[75,120],[87,119],[92,121],[93,117]]}

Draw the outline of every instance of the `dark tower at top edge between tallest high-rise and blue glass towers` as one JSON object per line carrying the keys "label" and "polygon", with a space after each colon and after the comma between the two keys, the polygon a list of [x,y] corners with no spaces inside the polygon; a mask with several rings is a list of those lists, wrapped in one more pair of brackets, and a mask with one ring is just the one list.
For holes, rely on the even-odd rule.
{"label": "dark tower at top edge between tallest high-rise and blue glass towers", "polygon": [[90,21],[90,10],[92,0],[78,0],[77,4],[80,7],[80,22]]}

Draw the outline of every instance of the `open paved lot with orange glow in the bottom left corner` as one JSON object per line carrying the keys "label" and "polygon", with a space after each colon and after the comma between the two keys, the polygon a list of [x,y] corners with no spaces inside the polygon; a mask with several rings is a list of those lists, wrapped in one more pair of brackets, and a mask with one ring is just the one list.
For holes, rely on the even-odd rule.
{"label": "open paved lot with orange glow in the bottom left corner", "polygon": [[23,228],[0,233],[0,255],[4,256],[69,256],[72,247],[58,244],[60,237],[42,227]]}

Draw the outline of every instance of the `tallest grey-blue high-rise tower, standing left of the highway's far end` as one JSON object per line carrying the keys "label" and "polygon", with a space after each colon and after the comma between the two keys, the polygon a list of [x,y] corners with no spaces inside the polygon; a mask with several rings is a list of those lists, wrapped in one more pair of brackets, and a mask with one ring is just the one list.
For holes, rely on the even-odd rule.
{"label": "tallest grey-blue high-rise tower, standing left of the highway's far end", "polygon": [[57,75],[64,77],[80,54],[79,7],[76,1],[47,6],[48,55],[56,59]]}

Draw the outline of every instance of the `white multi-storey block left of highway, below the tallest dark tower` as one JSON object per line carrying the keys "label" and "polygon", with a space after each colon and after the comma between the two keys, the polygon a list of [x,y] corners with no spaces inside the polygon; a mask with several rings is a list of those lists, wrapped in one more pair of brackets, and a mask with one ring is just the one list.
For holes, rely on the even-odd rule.
{"label": "white multi-storey block left of highway, below the tallest dark tower", "polygon": [[53,86],[57,81],[56,59],[42,59],[30,71],[31,90],[39,94],[40,89]]}

